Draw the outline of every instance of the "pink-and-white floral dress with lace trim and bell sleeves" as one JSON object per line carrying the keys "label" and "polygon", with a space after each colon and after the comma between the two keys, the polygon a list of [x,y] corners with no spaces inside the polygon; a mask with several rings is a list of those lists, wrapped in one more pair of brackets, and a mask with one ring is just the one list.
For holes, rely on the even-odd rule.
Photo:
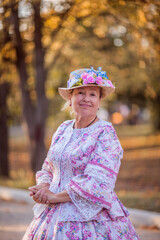
{"label": "pink-and-white floral dress with lace trim and bell sleeves", "polygon": [[128,211],[114,187],[123,149],[111,123],[99,120],[74,129],[62,123],[53,135],[37,183],[54,193],[67,190],[71,202],[35,204],[23,240],[137,240]]}

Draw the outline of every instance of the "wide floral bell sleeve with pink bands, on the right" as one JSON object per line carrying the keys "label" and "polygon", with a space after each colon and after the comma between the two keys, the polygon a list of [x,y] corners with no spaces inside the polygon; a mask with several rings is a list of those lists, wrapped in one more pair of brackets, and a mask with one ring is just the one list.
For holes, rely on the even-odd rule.
{"label": "wide floral bell sleeve with pink bands, on the right", "polygon": [[123,150],[112,126],[99,134],[84,174],[73,177],[68,194],[89,220],[102,208],[110,209]]}

